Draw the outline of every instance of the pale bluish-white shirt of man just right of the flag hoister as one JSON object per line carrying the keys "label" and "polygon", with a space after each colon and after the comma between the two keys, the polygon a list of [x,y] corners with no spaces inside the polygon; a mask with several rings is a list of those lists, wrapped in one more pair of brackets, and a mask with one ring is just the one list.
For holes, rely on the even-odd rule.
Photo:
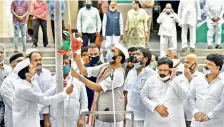
{"label": "pale bluish-white shirt of man just right of the flag hoister", "polygon": [[[149,66],[142,69],[137,75],[135,68],[131,69],[125,79],[124,90],[128,92],[127,111],[134,111],[135,127],[143,127],[146,108],[140,101],[140,93],[147,78],[155,75],[156,72]],[[131,127],[131,115],[126,115],[126,126]]]}

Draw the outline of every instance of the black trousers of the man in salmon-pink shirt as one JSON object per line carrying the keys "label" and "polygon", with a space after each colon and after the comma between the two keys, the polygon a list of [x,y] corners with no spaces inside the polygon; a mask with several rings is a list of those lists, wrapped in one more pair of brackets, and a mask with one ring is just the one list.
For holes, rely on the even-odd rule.
{"label": "black trousers of the man in salmon-pink shirt", "polygon": [[47,21],[42,19],[34,19],[33,20],[33,44],[37,46],[38,42],[38,31],[39,27],[43,31],[43,44],[44,46],[48,45],[48,38],[47,38]]}

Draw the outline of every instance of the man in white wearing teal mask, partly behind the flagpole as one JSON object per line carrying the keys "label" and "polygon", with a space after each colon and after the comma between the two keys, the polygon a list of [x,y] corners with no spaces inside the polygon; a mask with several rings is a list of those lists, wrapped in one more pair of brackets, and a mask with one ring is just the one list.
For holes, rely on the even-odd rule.
{"label": "man in white wearing teal mask, partly behind the flagpole", "polygon": [[[69,57],[63,56],[64,89],[73,84],[73,92],[64,101],[64,127],[80,127],[84,123],[81,112],[88,111],[88,98],[85,85],[69,75],[70,68]],[[54,75],[53,84],[56,84],[55,78]],[[53,94],[56,94],[56,91]],[[51,127],[57,127],[57,104],[50,105],[50,121]]]}

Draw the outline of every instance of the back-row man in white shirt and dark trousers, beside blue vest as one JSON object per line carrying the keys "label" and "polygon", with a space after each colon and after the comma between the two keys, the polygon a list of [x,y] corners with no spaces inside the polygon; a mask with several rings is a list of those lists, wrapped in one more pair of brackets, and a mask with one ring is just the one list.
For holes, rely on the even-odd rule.
{"label": "back-row man in white shirt and dark trousers, beside blue vest", "polygon": [[97,8],[92,7],[92,1],[86,0],[85,7],[78,12],[77,29],[79,36],[82,37],[83,47],[88,43],[95,43],[96,36],[100,34],[101,20]]}

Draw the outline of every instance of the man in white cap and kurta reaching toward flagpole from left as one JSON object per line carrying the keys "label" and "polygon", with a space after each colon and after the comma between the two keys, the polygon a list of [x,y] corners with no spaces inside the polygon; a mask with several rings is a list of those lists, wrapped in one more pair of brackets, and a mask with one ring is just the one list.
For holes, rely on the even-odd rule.
{"label": "man in white cap and kurta reaching toward flagpole from left", "polygon": [[36,69],[30,64],[29,59],[23,60],[17,66],[20,68],[18,76],[21,80],[16,84],[20,87],[16,87],[13,98],[13,127],[40,127],[38,104],[50,105],[61,102],[72,93],[73,88],[70,86],[66,91],[48,97],[33,80]]}

